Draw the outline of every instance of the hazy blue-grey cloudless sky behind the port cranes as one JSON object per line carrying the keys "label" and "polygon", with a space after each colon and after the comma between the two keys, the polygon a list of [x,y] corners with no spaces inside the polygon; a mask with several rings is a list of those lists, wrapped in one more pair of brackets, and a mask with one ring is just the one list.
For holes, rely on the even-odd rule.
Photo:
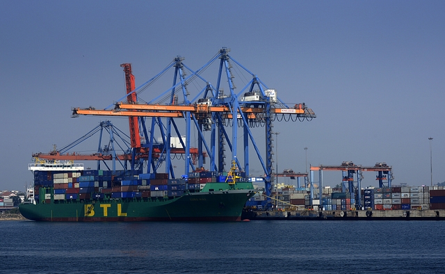
{"label": "hazy blue-grey cloudless sky behind the port cranes", "polygon": [[221,47],[318,116],[275,123],[280,170],[304,172],[308,147],[313,166],[385,161],[393,184],[429,185],[433,137],[433,182],[444,182],[444,14],[444,1],[1,1],[0,190],[24,190],[33,152],[103,120],[71,108],[122,97],[121,63],[139,86],[177,55],[197,69]]}

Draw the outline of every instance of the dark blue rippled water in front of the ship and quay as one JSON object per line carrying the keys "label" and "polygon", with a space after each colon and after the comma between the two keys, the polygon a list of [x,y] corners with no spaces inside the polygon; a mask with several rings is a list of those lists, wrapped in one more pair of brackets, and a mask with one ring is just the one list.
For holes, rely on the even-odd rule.
{"label": "dark blue rippled water in front of the ship and quay", "polygon": [[0,273],[445,273],[445,221],[0,222]]}

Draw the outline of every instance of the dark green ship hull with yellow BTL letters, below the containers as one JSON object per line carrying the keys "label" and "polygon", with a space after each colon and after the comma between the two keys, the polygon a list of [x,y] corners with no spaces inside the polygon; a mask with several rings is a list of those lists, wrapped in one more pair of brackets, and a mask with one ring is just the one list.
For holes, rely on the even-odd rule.
{"label": "dark green ship hull with yellow BTL letters, below the containers", "polygon": [[[227,184],[218,184],[223,186]],[[238,184],[237,184],[238,185]],[[203,189],[177,198],[104,199],[21,204],[22,216],[36,221],[234,221],[241,220],[245,202],[254,195],[242,183],[214,191]],[[240,186],[243,189],[240,189]]]}

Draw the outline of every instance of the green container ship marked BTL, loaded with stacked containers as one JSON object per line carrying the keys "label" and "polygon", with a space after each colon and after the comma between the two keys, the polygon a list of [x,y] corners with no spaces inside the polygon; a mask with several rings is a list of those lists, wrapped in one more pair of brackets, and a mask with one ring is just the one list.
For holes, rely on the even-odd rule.
{"label": "green container ship marked BTL, loaded with stacked containers", "polygon": [[20,213],[36,221],[235,221],[255,193],[230,170],[190,172],[182,179],[134,170],[84,170],[59,161],[30,164],[31,201]]}

